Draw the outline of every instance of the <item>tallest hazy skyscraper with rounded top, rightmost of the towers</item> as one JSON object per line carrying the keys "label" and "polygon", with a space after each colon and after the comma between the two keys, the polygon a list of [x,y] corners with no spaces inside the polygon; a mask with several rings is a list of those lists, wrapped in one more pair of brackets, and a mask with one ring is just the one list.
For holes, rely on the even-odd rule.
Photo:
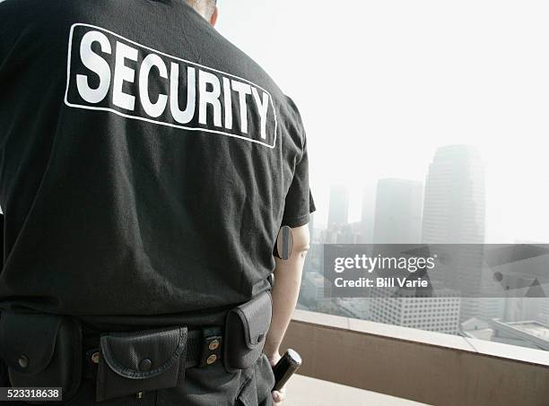
{"label": "tallest hazy skyscraper with rounded top, rightmost of the towers", "polygon": [[483,270],[484,165],[475,148],[450,145],[436,152],[425,183],[422,242],[469,244],[452,248],[448,265],[434,276],[464,298],[462,321],[478,316],[480,300],[475,297]]}

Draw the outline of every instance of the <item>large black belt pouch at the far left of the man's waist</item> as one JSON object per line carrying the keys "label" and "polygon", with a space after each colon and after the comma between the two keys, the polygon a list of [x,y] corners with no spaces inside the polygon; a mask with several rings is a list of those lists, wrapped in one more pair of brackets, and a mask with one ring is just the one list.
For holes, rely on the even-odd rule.
{"label": "large black belt pouch at the far left of the man's waist", "polygon": [[61,387],[63,402],[67,402],[82,378],[81,324],[67,315],[4,311],[0,356],[13,387]]}

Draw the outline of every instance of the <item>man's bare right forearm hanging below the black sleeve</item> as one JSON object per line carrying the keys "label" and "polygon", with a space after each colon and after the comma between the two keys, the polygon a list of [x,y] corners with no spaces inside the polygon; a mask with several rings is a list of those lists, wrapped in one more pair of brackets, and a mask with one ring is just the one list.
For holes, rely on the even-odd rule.
{"label": "man's bare right forearm hanging below the black sleeve", "polygon": [[301,286],[301,272],[305,256],[309,250],[309,226],[304,225],[292,229],[292,256],[283,261],[275,258],[273,285],[273,320],[266,336],[266,356],[271,361],[279,358],[280,344],[284,333],[292,319],[292,313],[297,304]]}

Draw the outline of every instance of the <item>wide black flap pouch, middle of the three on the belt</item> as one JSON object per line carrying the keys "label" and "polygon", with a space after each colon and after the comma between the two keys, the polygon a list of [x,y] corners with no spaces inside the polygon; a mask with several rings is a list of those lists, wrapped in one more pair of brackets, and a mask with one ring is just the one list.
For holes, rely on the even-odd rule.
{"label": "wide black flap pouch, middle of the three on the belt", "polygon": [[101,334],[96,401],[182,384],[186,346],[185,326]]}

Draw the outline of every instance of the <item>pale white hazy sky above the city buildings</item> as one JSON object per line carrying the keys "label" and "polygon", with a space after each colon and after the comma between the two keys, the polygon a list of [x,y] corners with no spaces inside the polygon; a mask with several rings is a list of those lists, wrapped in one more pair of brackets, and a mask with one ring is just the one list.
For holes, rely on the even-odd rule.
{"label": "pale white hazy sky above the city buildings", "polygon": [[424,180],[436,149],[475,145],[487,242],[549,242],[549,3],[220,0],[218,30],[301,109],[318,225],[328,188]]}

